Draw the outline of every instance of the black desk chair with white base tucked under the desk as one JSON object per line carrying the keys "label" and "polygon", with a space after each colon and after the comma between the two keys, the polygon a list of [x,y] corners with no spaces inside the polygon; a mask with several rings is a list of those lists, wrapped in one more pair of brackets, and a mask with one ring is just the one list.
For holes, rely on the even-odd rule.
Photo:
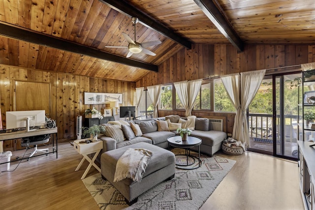
{"label": "black desk chair with white base tucked under the desk", "polygon": [[41,136],[32,136],[28,138],[22,138],[21,146],[26,147],[26,150],[30,149],[30,146],[34,146],[34,150],[32,151],[31,155],[28,157],[28,161],[30,160],[30,157],[32,157],[37,152],[47,153],[48,155],[48,148],[46,149],[37,149],[37,145],[45,144],[49,142],[50,135],[41,135]]}

